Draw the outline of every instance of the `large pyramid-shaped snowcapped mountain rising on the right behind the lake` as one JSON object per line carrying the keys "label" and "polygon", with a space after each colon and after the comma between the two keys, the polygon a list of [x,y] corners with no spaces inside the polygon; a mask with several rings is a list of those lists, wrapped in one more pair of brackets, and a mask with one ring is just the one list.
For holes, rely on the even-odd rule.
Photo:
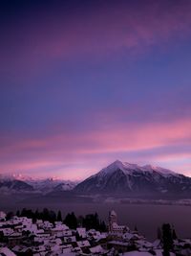
{"label": "large pyramid-shaped snowcapped mountain rising on the right behind the lake", "polygon": [[191,177],[151,165],[115,161],[79,183],[77,193],[108,195],[191,195]]}

